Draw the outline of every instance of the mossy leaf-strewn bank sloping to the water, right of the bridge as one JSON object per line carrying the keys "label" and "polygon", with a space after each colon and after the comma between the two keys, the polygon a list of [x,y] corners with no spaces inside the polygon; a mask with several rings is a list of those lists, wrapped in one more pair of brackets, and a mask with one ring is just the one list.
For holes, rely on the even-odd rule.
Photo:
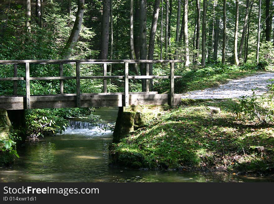
{"label": "mossy leaf-strewn bank sloping to the water, right of the bridge", "polygon": [[[235,120],[237,99],[190,100],[112,144],[112,163],[130,168],[274,171],[274,126]],[[220,111],[208,107],[219,107]]]}

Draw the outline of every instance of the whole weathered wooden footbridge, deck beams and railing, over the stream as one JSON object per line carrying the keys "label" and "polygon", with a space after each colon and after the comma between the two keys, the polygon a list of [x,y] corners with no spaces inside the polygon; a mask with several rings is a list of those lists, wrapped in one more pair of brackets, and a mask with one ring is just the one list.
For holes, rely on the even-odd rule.
{"label": "whole weathered wooden footbridge, deck beams and railing, over the stream", "polygon": [[[21,110],[35,108],[64,108],[64,107],[122,107],[129,105],[179,105],[181,94],[174,93],[174,79],[182,78],[174,76],[174,63],[180,60],[9,60],[0,61],[0,65],[13,65],[13,77],[0,78],[0,81],[13,81],[13,95],[0,96],[0,109]],[[122,76],[107,76],[107,64],[124,64],[125,70]],[[146,75],[129,75],[129,64],[145,63]],[[169,76],[149,75],[149,63],[170,63]],[[59,64],[59,76],[54,77],[30,77],[31,64]],[[76,76],[63,76],[63,65],[75,64]],[[80,75],[81,64],[102,64],[103,76]],[[17,77],[17,65],[26,67],[25,77]],[[59,94],[54,95],[31,95],[31,80],[59,80]],[[64,80],[76,80],[76,94],[64,94]],[[103,79],[104,93],[81,93],[81,79]],[[123,79],[124,92],[107,93],[107,79]],[[146,92],[129,92],[129,79],[146,79]],[[149,79],[169,79],[170,92],[158,94],[149,92]],[[26,94],[17,95],[17,81],[26,82]]]}

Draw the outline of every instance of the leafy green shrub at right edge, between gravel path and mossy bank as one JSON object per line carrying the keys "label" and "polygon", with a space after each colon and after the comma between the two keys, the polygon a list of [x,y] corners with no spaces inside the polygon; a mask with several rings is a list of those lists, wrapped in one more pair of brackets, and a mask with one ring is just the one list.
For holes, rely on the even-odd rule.
{"label": "leafy green shrub at right edge, between gravel path and mossy bank", "polygon": [[267,94],[258,97],[255,93],[256,89],[252,89],[252,96],[242,96],[240,103],[234,108],[234,113],[238,119],[241,116],[249,116],[250,120],[255,120],[261,124],[269,124],[274,120],[274,79],[271,79],[268,85]]}

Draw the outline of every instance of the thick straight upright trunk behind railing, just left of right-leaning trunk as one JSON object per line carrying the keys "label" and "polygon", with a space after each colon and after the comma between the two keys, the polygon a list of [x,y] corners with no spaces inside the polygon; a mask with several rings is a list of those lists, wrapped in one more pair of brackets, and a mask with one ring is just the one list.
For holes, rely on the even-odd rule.
{"label": "thick straight upright trunk behind railing, just left of right-leaning trunk", "polygon": [[[140,60],[147,59],[147,36],[146,36],[146,25],[147,25],[147,1],[140,0]],[[141,63],[140,65],[141,75],[146,75],[146,64]],[[142,79],[142,91],[146,91],[146,79]]]}

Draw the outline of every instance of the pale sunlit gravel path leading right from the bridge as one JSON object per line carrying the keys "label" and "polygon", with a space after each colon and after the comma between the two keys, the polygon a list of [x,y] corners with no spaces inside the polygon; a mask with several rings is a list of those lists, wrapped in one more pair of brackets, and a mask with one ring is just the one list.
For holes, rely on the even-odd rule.
{"label": "pale sunlit gravel path leading right from the bridge", "polygon": [[242,79],[231,80],[228,84],[220,85],[217,88],[207,88],[205,90],[191,91],[182,94],[182,98],[190,99],[211,99],[211,98],[235,98],[252,95],[252,90],[256,87],[257,95],[266,92],[267,85],[271,84],[268,79],[274,79],[274,73],[263,73],[245,77]]}

